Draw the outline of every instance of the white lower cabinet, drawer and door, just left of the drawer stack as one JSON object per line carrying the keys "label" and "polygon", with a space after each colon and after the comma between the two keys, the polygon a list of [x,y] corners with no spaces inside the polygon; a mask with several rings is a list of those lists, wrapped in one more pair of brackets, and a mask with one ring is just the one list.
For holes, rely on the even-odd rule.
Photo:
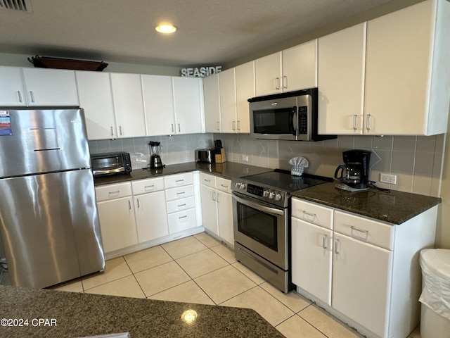
{"label": "white lower cabinet, drawer and door, just left of the drawer stack", "polygon": [[167,236],[166,197],[162,177],[131,182],[139,243]]}

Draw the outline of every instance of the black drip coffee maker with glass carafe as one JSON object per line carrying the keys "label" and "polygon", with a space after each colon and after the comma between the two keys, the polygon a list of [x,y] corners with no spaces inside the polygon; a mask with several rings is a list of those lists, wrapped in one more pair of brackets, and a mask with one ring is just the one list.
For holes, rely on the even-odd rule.
{"label": "black drip coffee maker with glass carafe", "polygon": [[335,171],[335,179],[340,183],[335,187],[348,192],[361,192],[368,189],[368,163],[371,151],[347,150],[342,152],[345,164],[339,165]]}

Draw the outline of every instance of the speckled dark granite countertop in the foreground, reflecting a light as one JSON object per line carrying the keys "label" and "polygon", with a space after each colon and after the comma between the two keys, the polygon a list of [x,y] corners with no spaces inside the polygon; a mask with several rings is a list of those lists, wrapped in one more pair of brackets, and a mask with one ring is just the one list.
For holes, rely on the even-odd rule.
{"label": "speckled dark granite countertop in the foreground, reflecting a light", "polygon": [[[182,320],[193,310],[192,323]],[[28,325],[4,325],[28,320]],[[0,286],[0,337],[284,337],[256,311],[151,299]],[[44,320],[39,325],[39,319]],[[45,321],[47,320],[47,321]],[[8,323],[6,321],[6,323]]]}

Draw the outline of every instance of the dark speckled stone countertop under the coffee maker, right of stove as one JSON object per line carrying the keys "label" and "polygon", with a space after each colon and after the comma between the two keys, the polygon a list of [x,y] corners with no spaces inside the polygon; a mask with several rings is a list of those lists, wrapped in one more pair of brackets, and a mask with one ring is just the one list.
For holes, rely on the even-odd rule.
{"label": "dark speckled stone countertop under the coffee maker, right of stove", "polygon": [[394,190],[383,192],[371,188],[366,192],[345,192],[335,188],[337,183],[324,183],[297,190],[292,195],[392,224],[404,223],[442,201],[436,197]]}

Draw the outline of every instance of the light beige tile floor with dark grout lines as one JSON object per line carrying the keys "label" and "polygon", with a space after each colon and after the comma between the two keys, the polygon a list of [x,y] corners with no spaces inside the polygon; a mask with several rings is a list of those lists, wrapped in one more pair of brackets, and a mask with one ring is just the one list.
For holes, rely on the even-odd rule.
{"label": "light beige tile floor with dark grout lines", "polygon": [[[205,232],[111,259],[104,273],[55,288],[253,308],[288,338],[362,337],[299,294],[272,287]],[[409,337],[420,338],[419,331]]]}

